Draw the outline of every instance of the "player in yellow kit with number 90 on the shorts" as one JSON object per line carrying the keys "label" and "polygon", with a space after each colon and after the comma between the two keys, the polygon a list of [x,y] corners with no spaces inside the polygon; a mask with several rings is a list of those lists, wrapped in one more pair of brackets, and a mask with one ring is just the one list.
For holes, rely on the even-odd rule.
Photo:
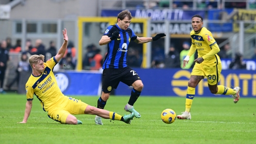
{"label": "player in yellow kit with number 90 on the shorts", "polygon": [[208,87],[213,94],[233,95],[234,103],[237,103],[240,98],[240,87],[234,89],[218,85],[222,65],[220,57],[217,53],[220,48],[211,32],[203,27],[203,17],[200,15],[192,16],[192,28],[190,35],[192,45],[189,54],[183,60],[183,67],[189,62],[190,57],[195,50],[198,52],[198,58],[194,60],[195,65],[191,72],[191,77],[188,84],[187,97],[185,103],[185,112],[182,115],[177,115],[178,119],[191,119],[190,109],[195,95],[195,87],[204,78],[207,77]]}

